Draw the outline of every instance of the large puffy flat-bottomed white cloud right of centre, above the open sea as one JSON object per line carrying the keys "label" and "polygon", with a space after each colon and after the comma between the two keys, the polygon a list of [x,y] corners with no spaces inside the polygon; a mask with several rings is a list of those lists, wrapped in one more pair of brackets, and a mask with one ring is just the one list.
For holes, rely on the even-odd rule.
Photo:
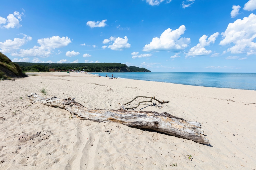
{"label": "large puffy flat-bottomed white cloud right of centre, above the open sea", "polygon": [[181,51],[185,49],[190,43],[190,38],[180,38],[186,30],[185,25],[181,25],[178,29],[172,30],[168,28],[165,30],[160,38],[155,37],[150,44],[146,44],[142,51],[151,50],[172,50]]}

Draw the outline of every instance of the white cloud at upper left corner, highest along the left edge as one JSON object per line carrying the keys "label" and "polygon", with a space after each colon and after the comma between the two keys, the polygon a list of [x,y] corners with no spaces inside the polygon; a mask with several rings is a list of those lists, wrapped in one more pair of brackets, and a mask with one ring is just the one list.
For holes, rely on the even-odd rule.
{"label": "white cloud at upper left corner, highest along the left edge", "polygon": [[[9,28],[19,28],[19,27],[21,27],[22,25],[20,24],[20,21],[22,21],[21,16],[23,16],[23,15],[24,15],[23,12],[19,13],[17,11],[14,11],[13,14],[9,14],[7,16],[7,19],[0,16],[0,28],[9,29]],[[5,24],[5,25],[3,25],[3,27],[2,27],[1,26],[2,24]]]}

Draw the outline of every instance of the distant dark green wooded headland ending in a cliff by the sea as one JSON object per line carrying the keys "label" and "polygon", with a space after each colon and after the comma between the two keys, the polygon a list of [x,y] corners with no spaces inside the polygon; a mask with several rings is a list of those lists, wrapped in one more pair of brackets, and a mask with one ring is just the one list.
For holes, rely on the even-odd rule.
{"label": "distant dark green wooded headland ending in a cliff by the sea", "polygon": [[49,71],[50,68],[57,70],[80,70],[87,72],[150,72],[146,68],[127,67],[121,63],[69,63],[69,64],[55,64],[55,63],[32,63],[32,62],[16,62],[22,71]]}

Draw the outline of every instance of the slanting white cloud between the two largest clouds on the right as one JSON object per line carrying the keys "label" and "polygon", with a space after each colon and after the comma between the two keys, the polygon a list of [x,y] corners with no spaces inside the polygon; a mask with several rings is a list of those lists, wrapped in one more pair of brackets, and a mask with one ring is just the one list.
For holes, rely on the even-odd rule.
{"label": "slanting white cloud between the two largest clouds on the right", "polygon": [[199,43],[190,48],[190,50],[188,51],[188,53],[186,54],[186,57],[188,56],[205,56],[210,54],[212,51],[211,50],[206,50],[204,47],[205,46],[209,46],[211,43],[215,43],[216,38],[218,37],[219,33],[216,32],[214,34],[212,34],[208,40],[207,39],[207,35],[203,35],[201,38],[199,38]]}

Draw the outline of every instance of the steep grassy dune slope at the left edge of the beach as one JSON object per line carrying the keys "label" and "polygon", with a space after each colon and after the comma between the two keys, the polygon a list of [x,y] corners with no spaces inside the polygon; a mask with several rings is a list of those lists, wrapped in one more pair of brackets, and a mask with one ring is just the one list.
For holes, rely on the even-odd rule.
{"label": "steep grassy dune slope at the left edge of the beach", "polygon": [[0,52],[0,79],[12,77],[25,77],[18,64],[12,62],[6,55]]}

